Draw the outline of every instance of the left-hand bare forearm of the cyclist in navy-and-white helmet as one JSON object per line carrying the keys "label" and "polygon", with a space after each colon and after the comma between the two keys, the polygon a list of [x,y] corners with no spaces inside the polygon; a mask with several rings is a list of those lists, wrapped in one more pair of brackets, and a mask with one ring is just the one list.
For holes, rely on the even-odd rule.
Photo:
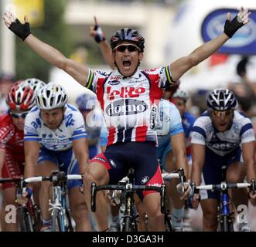
{"label": "left-hand bare forearm of the cyclist in navy-and-white helmet", "polygon": [[205,158],[205,146],[202,144],[192,144],[192,171],[191,181],[196,185],[201,184],[201,173],[203,171],[203,163]]}

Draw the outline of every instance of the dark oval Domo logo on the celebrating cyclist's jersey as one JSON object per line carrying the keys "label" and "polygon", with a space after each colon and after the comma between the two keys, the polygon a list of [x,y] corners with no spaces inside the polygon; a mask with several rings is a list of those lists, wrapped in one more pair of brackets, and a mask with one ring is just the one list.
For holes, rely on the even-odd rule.
{"label": "dark oval Domo logo on the celebrating cyclist's jersey", "polygon": [[148,109],[148,105],[142,100],[117,100],[106,107],[105,112],[110,117],[133,115],[143,113]]}

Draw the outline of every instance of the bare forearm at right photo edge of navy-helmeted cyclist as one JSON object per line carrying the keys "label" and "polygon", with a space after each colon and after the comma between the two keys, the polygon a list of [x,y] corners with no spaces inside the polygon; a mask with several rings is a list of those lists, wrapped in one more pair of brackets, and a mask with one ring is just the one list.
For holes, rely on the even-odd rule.
{"label": "bare forearm at right photo edge of navy-helmeted cyclist", "polygon": [[256,178],[255,167],[255,142],[250,141],[242,144],[242,155],[245,167],[247,167],[247,181]]}

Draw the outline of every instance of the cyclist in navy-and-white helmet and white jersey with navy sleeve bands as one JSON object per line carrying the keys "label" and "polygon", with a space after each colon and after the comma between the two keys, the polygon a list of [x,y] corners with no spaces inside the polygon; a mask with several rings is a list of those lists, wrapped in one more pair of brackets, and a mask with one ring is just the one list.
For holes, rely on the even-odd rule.
{"label": "cyclist in navy-and-white helmet and white jersey with navy sleeve bands", "polygon": [[[207,96],[207,110],[193,125],[191,181],[196,185],[220,184],[221,167],[227,166],[227,181],[243,182],[256,178],[255,137],[251,120],[238,112],[237,100],[230,90],[213,90]],[[247,205],[247,191],[232,191],[234,205]],[[252,202],[256,195],[249,195]],[[193,207],[199,200],[203,209],[203,230],[217,230],[217,206],[220,199],[218,191],[200,191],[193,197]],[[248,230],[247,225],[240,225]]]}

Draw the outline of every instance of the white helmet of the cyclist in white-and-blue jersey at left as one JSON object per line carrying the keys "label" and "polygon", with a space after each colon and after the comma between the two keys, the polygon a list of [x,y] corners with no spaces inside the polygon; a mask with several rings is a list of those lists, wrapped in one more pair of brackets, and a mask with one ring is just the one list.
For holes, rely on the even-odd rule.
{"label": "white helmet of the cyclist in white-and-blue jersey at left", "polygon": [[67,103],[66,90],[56,83],[48,83],[37,92],[36,105],[39,109],[52,110],[63,107],[65,103]]}

